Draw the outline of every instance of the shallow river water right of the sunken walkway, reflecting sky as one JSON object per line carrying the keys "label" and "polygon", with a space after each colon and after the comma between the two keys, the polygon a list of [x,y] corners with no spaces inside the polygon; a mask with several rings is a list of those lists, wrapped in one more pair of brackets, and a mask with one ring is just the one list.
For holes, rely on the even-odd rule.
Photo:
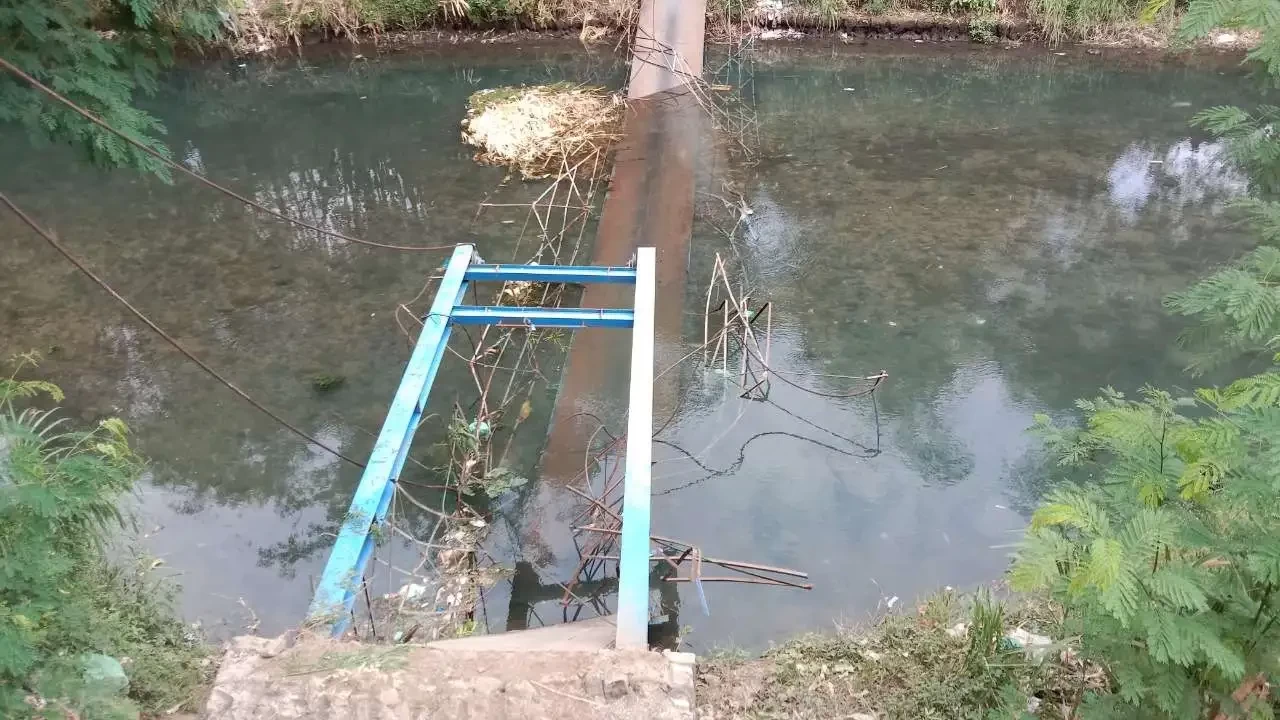
{"label": "shallow river water right of the sunken walkway, reflecting sky", "polygon": [[[755,76],[765,159],[735,179],[754,210],[748,277],[776,302],[773,356],[828,396],[847,388],[815,374],[891,378],[877,406],[774,382],[785,414],[686,370],[687,405],[662,439],[713,469],[746,461],[707,477],[658,445],[654,532],[806,569],[815,584],[708,585],[710,616],[682,587],[699,651],[998,578],[1043,489],[1033,415],[1070,418],[1105,384],[1185,384],[1179,323],[1160,300],[1245,245],[1222,218],[1245,182],[1187,126],[1247,92],[1221,68],[771,60]],[[716,250],[733,252],[703,223],[691,296]],[[686,337],[700,337],[698,315]],[[850,452],[792,415],[863,445],[879,437],[883,452]],[[769,432],[805,439],[753,439]]]}

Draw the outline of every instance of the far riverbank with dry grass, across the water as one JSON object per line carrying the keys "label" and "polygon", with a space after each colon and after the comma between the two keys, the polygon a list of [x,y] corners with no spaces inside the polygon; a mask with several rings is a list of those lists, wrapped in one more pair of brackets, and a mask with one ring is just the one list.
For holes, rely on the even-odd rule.
{"label": "far riverbank with dry grass, across the water", "polygon": [[[1181,17],[1166,10],[1149,20],[1120,3],[1057,9],[1020,0],[714,0],[708,40],[754,36],[792,40],[905,38],[979,44],[1083,44],[1172,49]],[[584,44],[617,42],[634,29],[634,0],[234,0],[227,42],[237,53],[333,38],[372,42],[520,42],[531,36],[572,36]],[[1254,32],[1216,32],[1198,47],[1248,49]]]}

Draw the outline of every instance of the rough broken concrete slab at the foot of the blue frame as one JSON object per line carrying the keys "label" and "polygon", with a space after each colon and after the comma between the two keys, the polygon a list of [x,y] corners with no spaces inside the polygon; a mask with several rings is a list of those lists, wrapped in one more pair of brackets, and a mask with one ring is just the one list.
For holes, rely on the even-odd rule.
{"label": "rough broken concrete slab at the foot of the blue frame", "polygon": [[686,720],[687,653],[232,641],[205,717]]}

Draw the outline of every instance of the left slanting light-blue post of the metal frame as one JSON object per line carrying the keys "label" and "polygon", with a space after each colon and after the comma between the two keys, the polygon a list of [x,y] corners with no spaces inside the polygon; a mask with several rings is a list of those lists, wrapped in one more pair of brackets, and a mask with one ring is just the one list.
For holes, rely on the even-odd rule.
{"label": "left slanting light-blue post of the metal frame", "polygon": [[422,333],[404,368],[387,419],[383,420],[383,429],[378,433],[369,464],[360,477],[351,510],[343,519],[329,562],[316,585],[316,594],[307,612],[308,621],[329,624],[334,637],[342,635],[347,629],[356,591],[374,552],[370,530],[387,518],[387,509],[396,493],[396,480],[404,466],[413,433],[426,407],[426,396],[449,342],[449,315],[462,300],[466,270],[474,252],[475,249],[470,245],[460,245],[453,250],[431,311],[422,323]]}

